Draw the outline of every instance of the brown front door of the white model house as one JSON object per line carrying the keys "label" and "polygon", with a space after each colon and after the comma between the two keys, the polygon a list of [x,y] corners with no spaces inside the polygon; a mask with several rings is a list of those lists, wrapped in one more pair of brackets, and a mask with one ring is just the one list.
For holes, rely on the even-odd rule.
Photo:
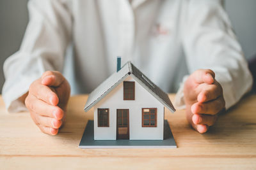
{"label": "brown front door of the white model house", "polygon": [[116,139],[129,139],[129,110],[116,110]]}

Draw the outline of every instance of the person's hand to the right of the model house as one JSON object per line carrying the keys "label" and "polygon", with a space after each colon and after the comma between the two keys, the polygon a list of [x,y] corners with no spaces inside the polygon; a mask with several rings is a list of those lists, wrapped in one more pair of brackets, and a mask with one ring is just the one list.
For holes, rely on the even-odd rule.
{"label": "person's hand to the right of the model house", "polygon": [[184,85],[186,116],[198,132],[207,132],[214,125],[218,113],[225,108],[223,90],[210,69],[200,69],[191,74]]}

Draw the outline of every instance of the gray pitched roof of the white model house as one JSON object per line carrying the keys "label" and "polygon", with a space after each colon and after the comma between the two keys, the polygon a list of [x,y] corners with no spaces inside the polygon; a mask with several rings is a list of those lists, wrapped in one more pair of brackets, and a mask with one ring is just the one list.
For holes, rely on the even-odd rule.
{"label": "gray pitched roof of the white model house", "polygon": [[150,81],[141,71],[131,62],[127,62],[118,72],[113,73],[108,79],[103,81],[95,90],[91,92],[84,106],[84,111],[90,110],[95,104],[103,99],[111,90],[115,89],[122,81],[132,76],[142,87],[144,87],[152,96],[162,103],[168,110],[174,112],[175,108],[170,101],[168,94],[163,92],[157,85]]}

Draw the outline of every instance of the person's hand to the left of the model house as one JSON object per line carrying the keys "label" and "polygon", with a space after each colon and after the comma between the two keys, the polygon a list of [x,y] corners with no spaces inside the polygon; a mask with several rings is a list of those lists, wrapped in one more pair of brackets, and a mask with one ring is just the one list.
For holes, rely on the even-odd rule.
{"label": "person's hand to the left of the model house", "polygon": [[31,83],[25,104],[42,132],[56,135],[65,120],[70,85],[57,71],[46,71]]}

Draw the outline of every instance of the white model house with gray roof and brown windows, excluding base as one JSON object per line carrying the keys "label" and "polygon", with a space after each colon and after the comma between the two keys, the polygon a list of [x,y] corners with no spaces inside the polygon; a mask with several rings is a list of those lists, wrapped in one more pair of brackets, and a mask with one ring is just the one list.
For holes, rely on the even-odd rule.
{"label": "white model house with gray roof and brown windows, excluding base", "polygon": [[93,106],[95,140],[163,140],[164,106],[175,111],[168,95],[131,62],[93,90],[84,110]]}

